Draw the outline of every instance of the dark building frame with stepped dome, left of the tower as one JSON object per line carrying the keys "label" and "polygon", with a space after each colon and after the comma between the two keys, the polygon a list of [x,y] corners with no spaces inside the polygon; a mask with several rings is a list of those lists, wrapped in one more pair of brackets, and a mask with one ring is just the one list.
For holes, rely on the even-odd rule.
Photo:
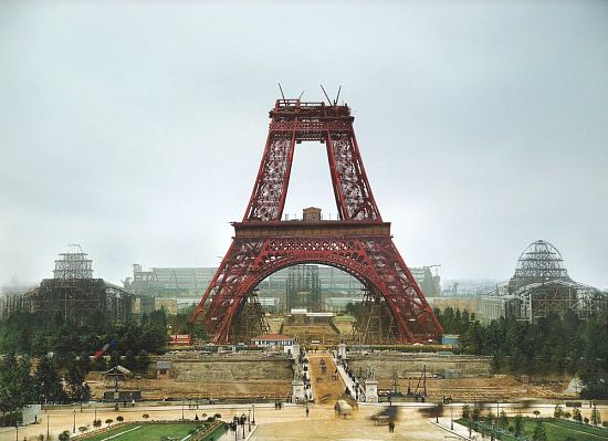
{"label": "dark building frame with stepped dome, left of the tower", "polygon": [[130,307],[132,295],[103,279],[94,279],[92,260],[80,245],[72,245],[55,261],[53,279],[44,279],[40,286],[13,298],[3,314],[21,309],[49,317],[60,314],[74,324],[97,317],[122,324],[129,317]]}

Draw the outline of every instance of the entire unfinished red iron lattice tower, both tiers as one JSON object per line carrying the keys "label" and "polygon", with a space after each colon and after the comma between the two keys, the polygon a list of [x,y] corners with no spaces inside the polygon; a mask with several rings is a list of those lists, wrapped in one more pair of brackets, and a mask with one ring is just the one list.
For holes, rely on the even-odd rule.
{"label": "entire unfinished red iron lattice tower, both tiers", "polygon": [[[277,99],[255,186],[234,238],[192,321],[213,343],[231,340],[255,286],[296,264],[325,264],[356,276],[391,315],[402,343],[436,340],[441,326],[397,251],[365,172],[347,105]],[[326,145],[339,220],[282,221],[294,148]]]}

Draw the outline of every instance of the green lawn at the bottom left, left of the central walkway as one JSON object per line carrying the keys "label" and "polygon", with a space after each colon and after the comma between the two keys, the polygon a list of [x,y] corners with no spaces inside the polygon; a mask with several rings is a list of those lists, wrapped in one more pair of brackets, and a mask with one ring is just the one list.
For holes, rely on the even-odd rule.
{"label": "green lawn at the bottom left, left of the central walkway", "polygon": [[[106,432],[97,433],[91,438],[87,438],[87,441],[160,441],[163,437],[170,437],[171,439],[177,439],[178,441],[188,437],[190,430],[196,429],[199,423],[171,423],[166,424],[150,424],[150,423],[133,423],[122,426],[117,429],[109,429]],[[223,431],[222,431],[223,433]],[[213,437],[219,438],[218,437]]]}

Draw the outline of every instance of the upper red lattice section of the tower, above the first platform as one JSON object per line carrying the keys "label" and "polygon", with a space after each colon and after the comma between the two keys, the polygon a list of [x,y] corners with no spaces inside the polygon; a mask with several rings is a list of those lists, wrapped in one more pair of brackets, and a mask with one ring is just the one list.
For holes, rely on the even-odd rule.
{"label": "upper red lattice section of the tower, above the first platform", "polygon": [[277,101],[270,115],[266,147],[243,222],[281,220],[294,148],[304,140],[326,145],[339,219],[381,222],[347,106]]}

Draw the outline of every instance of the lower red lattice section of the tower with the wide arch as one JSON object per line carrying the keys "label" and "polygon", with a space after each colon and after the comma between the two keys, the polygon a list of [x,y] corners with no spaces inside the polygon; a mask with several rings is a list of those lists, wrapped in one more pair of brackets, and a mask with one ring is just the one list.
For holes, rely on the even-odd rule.
{"label": "lower red lattice section of the tower with the wide arch", "polygon": [[[291,235],[273,237],[283,223],[284,233],[291,230]],[[237,237],[195,313],[201,314],[209,301],[206,325],[214,343],[229,342],[239,305],[262,280],[301,263],[332,265],[374,286],[386,298],[398,325],[396,337],[401,342],[427,340],[441,333],[429,304],[395,248],[387,224],[385,234],[361,235],[365,227],[378,225],[359,223],[347,228],[338,222],[322,221],[308,229],[302,225],[295,235],[293,223],[268,225],[266,234],[258,227],[253,229],[254,237],[243,237],[252,231],[249,225],[235,224]],[[340,235],[335,234],[336,224]]]}

